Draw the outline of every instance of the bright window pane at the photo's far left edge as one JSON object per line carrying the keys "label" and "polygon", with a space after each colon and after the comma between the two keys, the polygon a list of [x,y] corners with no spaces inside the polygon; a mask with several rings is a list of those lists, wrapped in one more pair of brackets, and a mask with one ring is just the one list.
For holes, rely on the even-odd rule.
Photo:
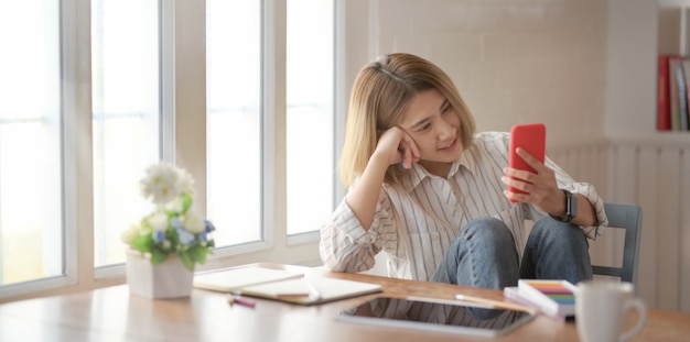
{"label": "bright window pane at the photo's far left edge", "polygon": [[0,0],[0,284],[64,268],[57,3]]}

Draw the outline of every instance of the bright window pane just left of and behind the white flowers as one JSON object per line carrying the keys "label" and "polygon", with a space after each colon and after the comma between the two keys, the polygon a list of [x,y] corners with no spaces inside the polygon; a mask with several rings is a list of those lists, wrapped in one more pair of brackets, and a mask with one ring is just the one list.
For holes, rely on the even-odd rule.
{"label": "bright window pane just left of and behind the white flowers", "polygon": [[159,3],[91,1],[95,266],[125,261],[120,232],[150,212],[139,179],[160,159]]}

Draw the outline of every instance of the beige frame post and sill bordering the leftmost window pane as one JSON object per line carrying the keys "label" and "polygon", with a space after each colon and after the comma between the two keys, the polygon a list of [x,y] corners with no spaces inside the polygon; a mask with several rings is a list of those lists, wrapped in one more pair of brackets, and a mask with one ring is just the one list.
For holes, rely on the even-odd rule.
{"label": "beige frame post and sill bordering the leftmost window pane", "polygon": [[[60,1],[61,74],[61,163],[63,165],[63,274],[36,280],[0,286],[2,296],[23,298],[52,294],[67,287],[86,288],[93,283],[94,255],[90,89],[90,5],[83,1]],[[89,269],[91,272],[89,272]],[[85,282],[86,280],[86,282]]]}

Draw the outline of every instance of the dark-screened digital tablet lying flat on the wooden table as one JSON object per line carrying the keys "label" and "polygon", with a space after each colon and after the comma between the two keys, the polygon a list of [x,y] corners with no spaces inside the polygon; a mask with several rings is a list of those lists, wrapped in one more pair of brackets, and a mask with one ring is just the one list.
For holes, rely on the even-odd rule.
{"label": "dark-screened digital tablet lying flat on the wooden table", "polygon": [[336,319],[389,328],[498,337],[533,317],[533,311],[492,309],[459,300],[378,297],[339,312]]}

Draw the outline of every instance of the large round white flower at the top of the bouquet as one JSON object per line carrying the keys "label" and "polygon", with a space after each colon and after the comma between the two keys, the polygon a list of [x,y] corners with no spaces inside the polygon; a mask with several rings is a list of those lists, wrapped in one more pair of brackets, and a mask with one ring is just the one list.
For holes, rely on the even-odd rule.
{"label": "large round white flower at the top of the bouquet", "polygon": [[160,163],[147,169],[147,176],[140,181],[141,194],[144,198],[151,197],[157,205],[164,205],[180,196],[180,172],[176,167]]}

